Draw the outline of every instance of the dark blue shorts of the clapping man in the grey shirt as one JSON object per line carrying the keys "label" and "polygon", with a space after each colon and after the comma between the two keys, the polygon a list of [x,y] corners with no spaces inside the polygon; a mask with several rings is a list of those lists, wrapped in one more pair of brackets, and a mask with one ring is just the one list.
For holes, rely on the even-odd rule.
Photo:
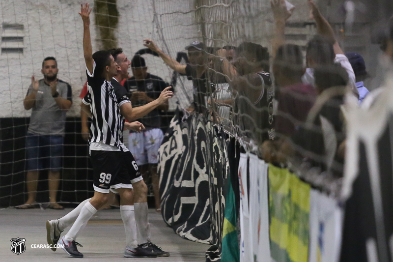
{"label": "dark blue shorts of the clapping man in the grey shirt", "polygon": [[60,171],[63,162],[63,141],[62,136],[28,133],[26,137],[26,170]]}

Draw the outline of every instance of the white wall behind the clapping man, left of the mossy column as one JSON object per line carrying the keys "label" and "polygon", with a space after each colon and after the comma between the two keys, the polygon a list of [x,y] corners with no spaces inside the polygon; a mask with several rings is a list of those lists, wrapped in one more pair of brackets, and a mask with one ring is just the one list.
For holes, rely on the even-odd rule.
{"label": "white wall behind the clapping man, left of the mossy column", "polygon": [[[30,85],[31,75],[42,78],[41,63],[48,56],[57,59],[58,78],[72,86],[75,100],[68,114],[78,115],[80,102],[77,97],[85,81],[83,27],[77,13],[80,2],[1,0],[0,8],[1,25],[24,25],[24,54],[0,55],[0,117],[30,115],[31,110],[23,108],[23,99]],[[94,25],[94,19],[92,24]],[[95,38],[94,30],[92,37]]]}

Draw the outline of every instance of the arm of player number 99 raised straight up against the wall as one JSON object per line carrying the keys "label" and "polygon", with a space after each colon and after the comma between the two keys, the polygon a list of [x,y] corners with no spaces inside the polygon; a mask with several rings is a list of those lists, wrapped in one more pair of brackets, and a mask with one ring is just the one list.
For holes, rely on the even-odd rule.
{"label": "arm of player number 99 raised straight up against the wall", "polygon": [[81,15],[83,21],[83,54],[84,61],[86,63],[86,68],[89,70],[90,74],[93,74],[93,48],[91,47],[91,38],[90,38],[90,12],[91,8],[89,8],[89,4],[85,3],[84,5],[81,3],[81,12],[78,14]]}

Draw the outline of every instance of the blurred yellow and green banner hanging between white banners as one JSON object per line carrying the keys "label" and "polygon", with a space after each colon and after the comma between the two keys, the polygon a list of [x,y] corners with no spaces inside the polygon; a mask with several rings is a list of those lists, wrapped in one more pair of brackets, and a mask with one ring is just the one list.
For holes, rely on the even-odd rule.
{"label": "blurred yellow and green banner hanging between white banners", "polygon": [[310,186],[269,166],[270,250],[276,262],[307,262]]}

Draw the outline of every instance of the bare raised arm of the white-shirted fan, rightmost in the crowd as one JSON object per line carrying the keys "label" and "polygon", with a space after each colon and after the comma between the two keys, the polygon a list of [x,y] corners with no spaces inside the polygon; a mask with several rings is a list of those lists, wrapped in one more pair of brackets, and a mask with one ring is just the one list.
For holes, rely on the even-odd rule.
{"label": "bare raised arm of the white-shirted fan, rightmost in the crowd", "polygon": [[334,32],[333,28],[330,26],[329,22],[326,20],[325,17],[323,17],[323,15],[319,11],[319,9],[316,6],[316,4],[314,3],[314,1],[312,1],[312,0],[308,0],[308,1],[309,1],[309,6],[311,8],[311,18],[313,18],[315,20],[318,33],[320,35],[327,37],[328,39],[330,39],[332,41],[333,48],[334,48],[336,55],[337,54],[344,54],[344,52],[342,52],[342,49],[340,48],[340,46],[337,42],[335,32]]}

